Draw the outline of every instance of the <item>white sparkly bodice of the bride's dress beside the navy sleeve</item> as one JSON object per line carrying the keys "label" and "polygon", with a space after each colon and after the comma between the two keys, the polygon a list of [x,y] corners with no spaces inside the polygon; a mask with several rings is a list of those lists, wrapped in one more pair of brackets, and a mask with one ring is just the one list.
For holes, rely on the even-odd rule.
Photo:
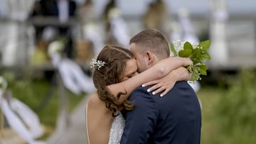
{"label": "white sparkly bodice of the bride's dress beside the navy sleeve", "polygon": [[122,138],[122,133],[124,132],[125,120],[122,113],[119,113],[117,117],[114,118],[110,129],[110,140],[108,144],[119,144]]}

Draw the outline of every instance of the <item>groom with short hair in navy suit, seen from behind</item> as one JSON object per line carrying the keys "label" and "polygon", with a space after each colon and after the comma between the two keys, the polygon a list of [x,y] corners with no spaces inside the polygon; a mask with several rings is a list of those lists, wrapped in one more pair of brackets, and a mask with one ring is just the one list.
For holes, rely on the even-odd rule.
{"label": "groom with short hair in navy suit, seen from behind", "polygon": [[[130,40],[138,72],[149,69],[170,50],[164,35],[154,29],[142,31]],[[198,97],[186,81],[176,82],[164,97],[138,87],[129,96],[136,106],[125,113],[126,124],[121,143],[199,144],[201,108]]]}

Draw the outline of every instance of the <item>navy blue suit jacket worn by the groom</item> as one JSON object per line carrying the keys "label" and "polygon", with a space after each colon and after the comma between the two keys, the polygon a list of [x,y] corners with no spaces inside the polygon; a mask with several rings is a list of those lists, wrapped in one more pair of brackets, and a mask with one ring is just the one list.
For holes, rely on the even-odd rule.
{"label": "navy blue suit jacket worn by the groom", "polygon": [[126,111],[121,143],[198,144],[201,108],[196,93],[185,82],[176,82],[164,97],[139,87],[129,97],[136,106]]}

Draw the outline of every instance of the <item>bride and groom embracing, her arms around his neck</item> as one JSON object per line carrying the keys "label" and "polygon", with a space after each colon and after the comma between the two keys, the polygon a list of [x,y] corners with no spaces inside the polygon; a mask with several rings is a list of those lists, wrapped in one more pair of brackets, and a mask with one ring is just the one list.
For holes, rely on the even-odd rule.
{"label": "bride and groom embracing, her arms around his neck", "polygon": [[86,106],[88,144],[199,144],[201,108],[187,83],[189,58],[170,57],[156,29],[130,40],[129,50],[102,48],[91,62],[97,92]]}

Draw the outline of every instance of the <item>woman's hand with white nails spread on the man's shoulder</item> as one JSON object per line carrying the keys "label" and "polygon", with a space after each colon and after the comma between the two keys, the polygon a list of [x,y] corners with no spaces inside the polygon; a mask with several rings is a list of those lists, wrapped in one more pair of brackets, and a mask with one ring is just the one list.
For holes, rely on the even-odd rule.
{"label": "woman's hand with white nails spread on the man's shoulder", "polygon": [[191,74],[186,70],[185,67],[178,67],[176,70],[171,71],[165,77],[161,79],[157,79],[151,82],[146,82],[143,84],[143,87],[153,85],[149,89],[148,92],[152,92],[152,94],[159,94],[159,92],[163,92],[160,96],[166,95],[173,87],[177,81],[188,80],[191,78]]}

